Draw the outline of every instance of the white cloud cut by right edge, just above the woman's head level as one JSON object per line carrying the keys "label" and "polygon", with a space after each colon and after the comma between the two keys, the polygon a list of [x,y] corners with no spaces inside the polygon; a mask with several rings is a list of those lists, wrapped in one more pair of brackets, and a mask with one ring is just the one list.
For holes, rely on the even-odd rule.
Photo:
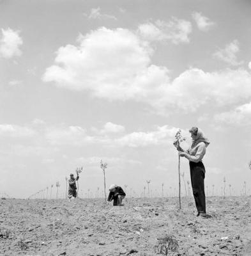
{"label": "white cloud cut by right edge, just above the woman's head level", "polygon": [[243,104],[233,109],[215,115],[215,121],[233,125],[250,125],[251,124],[251,102]]}

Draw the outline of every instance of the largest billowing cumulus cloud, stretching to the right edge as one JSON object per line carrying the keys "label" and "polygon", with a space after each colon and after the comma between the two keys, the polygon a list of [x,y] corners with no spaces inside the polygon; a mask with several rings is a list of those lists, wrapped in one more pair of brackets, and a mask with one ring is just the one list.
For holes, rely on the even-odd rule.
{"label": "largest billowing cumulus cloud, stretching to the right edge", "polygon": [[243,68],[190,68],[171,81],[166,67],[151,64],[152,54],[151,46],[128,29],[100,28],[79,36],[77,46],[60,47],[42,79],[107,100],[142,102],[160,113],[229,106],[251,96],[251,74]]}

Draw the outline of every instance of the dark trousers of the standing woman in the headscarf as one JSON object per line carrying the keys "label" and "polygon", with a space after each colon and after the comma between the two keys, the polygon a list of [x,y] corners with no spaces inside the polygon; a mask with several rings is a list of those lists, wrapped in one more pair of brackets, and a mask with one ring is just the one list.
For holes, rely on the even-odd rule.
{"label": "dark trousers of the standing woman in the headscarf", "polygon": [[205,167],[202,162],[189,162],[191,184],[194,194],[195,205],[198,212],[206,213],[206,196],[204,191]]}

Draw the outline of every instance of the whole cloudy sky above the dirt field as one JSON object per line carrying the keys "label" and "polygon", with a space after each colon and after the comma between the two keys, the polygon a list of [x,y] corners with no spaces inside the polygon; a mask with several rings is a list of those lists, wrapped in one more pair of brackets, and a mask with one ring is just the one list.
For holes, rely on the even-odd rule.
{"label": "whole cloudy sky above the dirt field", "polygon": [[[106,183],[178,191],[174,135],[211,142],[206,193],[243,193],[251,170],[249,0],[0,1],[0,191],[27,198],[83,166]],[[190,181],[187,159],[181,173]],[[90,193],[90,192],[89,192]],[[185,187],[182,183],[182,193]]]}

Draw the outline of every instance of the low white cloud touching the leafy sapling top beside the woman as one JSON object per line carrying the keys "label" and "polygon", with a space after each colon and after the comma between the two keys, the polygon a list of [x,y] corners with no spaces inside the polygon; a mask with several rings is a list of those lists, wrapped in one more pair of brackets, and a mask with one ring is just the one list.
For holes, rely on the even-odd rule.
{"label": "low white cloud touching the leafy sapling top beside the woman", "polygon": [[157,127],[156,131],[151,132],[132,132],[116,140],[120,146],[127,147],[146,147],[149,145],[162,145],[170,143],[177,129],[164,125]]}

